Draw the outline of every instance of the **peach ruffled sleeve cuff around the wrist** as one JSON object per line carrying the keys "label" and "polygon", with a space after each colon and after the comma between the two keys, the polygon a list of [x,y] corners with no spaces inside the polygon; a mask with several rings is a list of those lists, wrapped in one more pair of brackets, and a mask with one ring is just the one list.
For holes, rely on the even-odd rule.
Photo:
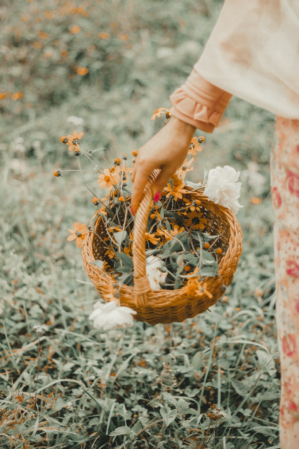
{"label": "peach ruffled sleeve cuff around the wrist", "polygon": [[186,83],[170,95],[171,114],[204,132],[213,132],[232,95],[192,70]]}

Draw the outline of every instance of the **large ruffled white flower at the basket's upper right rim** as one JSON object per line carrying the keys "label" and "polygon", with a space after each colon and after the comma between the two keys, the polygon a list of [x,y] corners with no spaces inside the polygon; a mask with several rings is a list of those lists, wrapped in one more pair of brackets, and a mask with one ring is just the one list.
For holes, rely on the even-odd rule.
{"label": "large ruffled white flower at the basket's upper right rim", "polygon": [[229,165],[213,168],[208,172],[204,195],[207,195],[209,201],[228,207],[237,214],[239,207],[243,207],[238,203],[242,185],[242,182],[236,182],[239,175],[240,172]]}

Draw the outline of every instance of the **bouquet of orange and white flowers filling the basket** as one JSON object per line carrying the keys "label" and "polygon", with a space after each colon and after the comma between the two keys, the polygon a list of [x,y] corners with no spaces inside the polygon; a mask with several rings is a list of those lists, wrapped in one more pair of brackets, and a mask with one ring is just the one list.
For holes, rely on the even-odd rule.
{"label": "bouquet of orange and white flowers filling the basket", "polygon": [[[161,115],[165,115],[165,120]],[[160,117],[164,125],[171,119],[169,110],[157,109],[152,120]],[[115,158],[112,166],[104,167],[97,160],[95,150],[84,150],[80,144],[83,133],[74,131],[73,135],[62,136],[61,142],[68,146],[78,158],[78,169],[83,173],[79,157],[85,156],[93,165],[97,176],[97,188],[89,188],[92,193],[91,203],[97,210],[91,225],[74,223],[74,229],[69,229],[69,241],[75,240],[82,247],[83,239],[88,233],[95,233],[100,239],[104,251],[95,264],[113,277],[116,288],[111,299],[117,302],[118,291],[123,284],[133,286],[132,247],[134,242],[134,216],[130,210],[130,174],[138,158],[138,152],[132,151],[132,157],[122,154]],[[197,152],[202,151],[204,136],[193,137],[188,155],[178,173],[181,182],[174,185],[172,180],[165,186],[160,199],[152,200],[148,213],[146,240],[146,273],[152,290],[180,289],[187,286],[190,291],[199,289],[199,280],[203,277],[217,276],[218,263],[227,248],[217,245],[220,235],[211,235],[206,227],[208,219],[200,208],[200,200],[196,195],[186,195],[186,173],[193,170]],[[54,176],[61,176],[68,170],[57,169]],[[217,167],[210,170],[203,184],[196,185],[196,190],[203,193],[210,201],[230,208],[235,214],[240,196],[240,182],[236,182],[239,172],[232,167]],[[206,175],[205,175],[206,177]],[[190,183],[192,185],[192,183]],[[94,223],[98,217],[104,224],[105,232],[96,233]],[[201,291],[212,295],[206,286]],[[198,293],[198,291],[197,291]],[[107,299],[107,298],[106,298]],[[90,318],[95,325],[108,329],[117,326],[132,326],[132,309],[121,307],[118,301],[113,304],[97,302]],[[107,310],[106,310],[107,309]],[[121,310],[123,309],[123,310]],[[126,310],[125,310],[126,309]],[[116,314],[118,315],[116,316]],[[113,318],[114,317],[114,318]],[[116,317],[116,318],[115,318]]]}

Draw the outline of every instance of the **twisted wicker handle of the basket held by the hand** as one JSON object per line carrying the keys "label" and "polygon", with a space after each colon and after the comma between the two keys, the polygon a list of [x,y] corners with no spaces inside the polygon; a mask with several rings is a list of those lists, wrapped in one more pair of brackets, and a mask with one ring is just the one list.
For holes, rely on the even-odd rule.
{"label": "twisted wicker handle of the basket held by the hand", "polygon": [[[147,293],[152,291],[145,270],[145,232],[147,229],[148,212],[150,210],[153,197],[152,185],[159,173],[160,170],[155,169],[149,176],[134,222],[134,292],[135,304],[138,307],[147,305]],[[173,181],[173,185],[180,185],[182,183],[182,176],[179,172],[175,172],[171,179]]]}

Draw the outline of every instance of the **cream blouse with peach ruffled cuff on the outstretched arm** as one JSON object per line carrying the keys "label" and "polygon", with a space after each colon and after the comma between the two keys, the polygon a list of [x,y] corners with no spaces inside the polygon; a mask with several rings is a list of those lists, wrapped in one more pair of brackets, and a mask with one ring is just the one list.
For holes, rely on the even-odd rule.
{"label": "cream blouse with peach ruffled cuff on the outstretched arm", "polygon": [[232,95],[299,119],[299,0],[225,0],[170,112],[212,132]]}

